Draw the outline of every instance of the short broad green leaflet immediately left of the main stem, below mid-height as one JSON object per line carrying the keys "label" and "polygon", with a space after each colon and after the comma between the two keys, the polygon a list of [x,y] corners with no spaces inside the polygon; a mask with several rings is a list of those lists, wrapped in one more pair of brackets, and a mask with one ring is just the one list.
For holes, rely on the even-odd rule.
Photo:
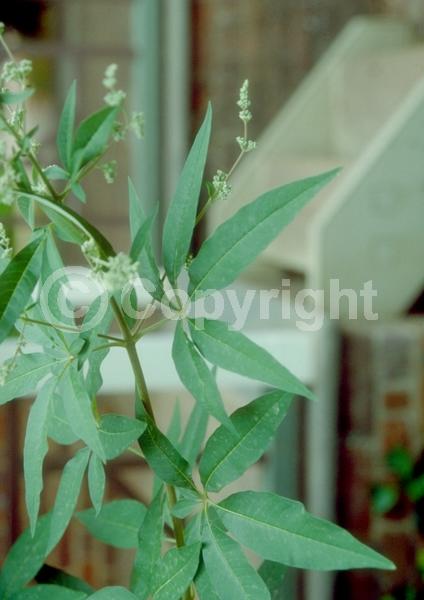
{"label": "short broad green leaflet immediately left of the main stem, below mid-height", "polygon": [[124,452],[146,429],[146,423],[124,417],[105,414],[100,420],[100,441],[106,458],[111,460]]}

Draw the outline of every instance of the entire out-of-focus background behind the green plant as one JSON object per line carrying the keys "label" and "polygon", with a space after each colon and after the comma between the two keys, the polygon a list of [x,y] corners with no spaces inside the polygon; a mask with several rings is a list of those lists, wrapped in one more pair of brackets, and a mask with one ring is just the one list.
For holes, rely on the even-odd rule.
{"label": "entire out-of-focus background behind the green plant", "polygon": [[[0,21],[16,56],[34,62],[38,91],[30,107],[44,164],[57,160],[55,128],[73,79],[80,118],[101,105],[110,63],[119,65],[130,109],[144,111],[145,140],[129,136],[111,150],[119,160],[115,185],[95,172],[85,185],[87,204],[72,200],[119,249],[129,243],[127,175],[147,207],[159,201],[163,220],[208,100],[214,127],[206,175],[230,168],[246,78],[254,116],[249,137],[258,149],[236,171],[230,198],[208,214],[197,245],[270,187],[343,167],[238,284],[241,292],[281,289],[288,278],[294,287],[325,292],[318,330],[283,321],[278,300],[267,322],[249,315],[252,337],[312,385],[320,402],[296,404],[269,455],[238,487],[299,498],[398,566],[389,574],[290,576],[281,597],[424,598],[423,0],[13,0],[1,3]],[[3,220],[19,240],[22,223],[13,214]],[[81,261],[75,250],[64,254]],[[358,297],[372,280],[379,318],[367,320],[361,311],[352,318],[347,294],[340,318],[331,319],[333,278]],[[183,420],[192,405],[168,365],[170,339],[157,334],[145,349],[164,427],[169,397],[180,399]],[[235,377],[222,383],[230,410],[261,391]],[[105,406],[122,404],[130,392],[125,366],[110,363]],[[1,411],[2,556],[26,526],[19,475],[26,414],[25,401]],[[52,445],[45,509],[65,459]],[[109,497],[148,498],[148,476],[140,478],[131,456],[111,463],[109,476]],[[86,496],[81,505],[88,505]],[[50,562],[108,585],[126,581],[128,552],[102,546],[73,523]]]}

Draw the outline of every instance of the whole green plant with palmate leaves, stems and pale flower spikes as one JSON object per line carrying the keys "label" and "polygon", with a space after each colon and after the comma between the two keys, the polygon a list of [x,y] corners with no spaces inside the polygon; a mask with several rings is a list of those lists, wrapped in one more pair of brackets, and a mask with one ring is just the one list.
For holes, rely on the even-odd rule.
{"label": "whole green plant with palmate leaves, stems and pale flower spikes", "polygon": [[[336,171],[264,194],[221,225],[191,257],[193,231],[209,205],[228,195],[233,170],[219,171],[207,184],[207,199],[198,211],[211,130],[208,108],[165,220],[161,274],[150,239],[154,215],[146,217],[131,183],[129,255],[116,254],[102,233],[67,204],[72,193],[85,200],[84,178],[99,165],[111,140],[125,135],[129,126],[140,133],[141,116],[125,116],[125,94],[116,90],[115,67],[108,68],[104,80],[107,106],[78,127],[74,123],[76,86],[71,86],[57,135],[61,166],[47,168],[37,158],[36,130],[25,127],[25,102],[32,94],[27,85],[29,71],[28,61],[16,63],[10,57],[3,67],[0,91],[1,128],[12,143],[8,152],[5,147],[1,150],[2,200],[16,203],[31,230],[28,245],[14,256],[4,232],[1,240],[0,341],[14,328],[19,339],[15,355],[2,367],[0,402],[36,392],[24,447],[30,527],[3,564],[1,598],[188,600],[197,594],[202,600],[259,600],[275,597],[287,567],[392,569],[390,561],[336,525],[308,514],[299,502],[253,491],[235,493],[219,502],[212,499],[211,492],[236,480],[267,450],[293,396],[313,399],[313,394],[241,332],[221,321],[187,315],[183,294],[178,291],[184,268],[191,300],[231,284]],[[6,89],[8,81],[18,84],[18,89]],[[238,139],[241,153],[236,164],[254,147],[247,138],[249,104],[245,83],[239,99],[244,134]],[[110,162],[102,167],[108,181],[113,179],[114,168]],[[57,181],[63,182],[62,187]],[[47,224],[43,224],[45,217]],[[52,274],[58,277],[53,291],[54,285],[66,281],[57,238],[81,246],[105,290],[79,325],[72,316],[61,314],[51,287],[47,297],[51,318],[44,318],[43,289],[50,284],[49,278]],[[152,304],[165,304],[173,319],[161,318],[149,325],[146,312],[136,318],[128,316],[121,292],[136,276],[149,280]],[[37,281],[41,291],[33,296]],[[89,327],[105,294],[107,307],[101,319]],[[134,301],[133,291],[127,296],[125,301]],[[120,328],[119,336],[110,334],[113,319]],[[136,347],[138,340],[167,320],[176,320],[173,359],[182,383],[196,401],[181,436],[165,435],[157,427]],[[26,353],[26,340],[36,342],[42,350]],[[104,413],[97,400],[100,366],[114,346],[126,351],[134,373],[134,418]],[[271,389],[227,415],[210,365],[262,381]],[[220,425],[201,451],[209,416]],[[64,467],[52,510],[39,516],[49,438],[77,445]],[[154,472],[149,506],[133,499],[103,503],[104,465],[126,451],[139,456]],[[193,471],[199,455],[200,479],[195,482]],[[87,583],[45,564],[74,516],[86,472],[93,508],[77,513],[76,518],[106,544],[137,549],[128,589],[94,591]],[[241,546],[264,559],[258,570]],[[26,587],[34,579],[38,585]]]}

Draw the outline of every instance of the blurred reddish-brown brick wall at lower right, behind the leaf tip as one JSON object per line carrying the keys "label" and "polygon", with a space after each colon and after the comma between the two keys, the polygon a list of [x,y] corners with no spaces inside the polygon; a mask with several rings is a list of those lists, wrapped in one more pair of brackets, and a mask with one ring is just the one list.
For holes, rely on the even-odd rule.
{"label": "blurred reddish-brown brick wall at lower right, behind the leaf tip", "polygon": [[411,510],[378,516],[370,499],[373,485],[387,481],[390,450],[403,447],[418,458],[423,449],[424,319],[367,323],[345,336],[339,440],[339,522],[398,569],[344,574],[336,597],[374,600],[414,578],[420,541]]}

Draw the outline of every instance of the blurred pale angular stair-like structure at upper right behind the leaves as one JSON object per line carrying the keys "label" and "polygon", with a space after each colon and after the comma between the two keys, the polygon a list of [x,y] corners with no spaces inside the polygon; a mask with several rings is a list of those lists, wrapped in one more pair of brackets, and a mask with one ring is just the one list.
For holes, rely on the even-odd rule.
{"label": "blurred pale angular stair-like structure at upper right behind the leaves", "polygon": [[326,306],[330,279],[357,291],[372,280],[379,316],[396,315],[424,284],[423,132],[424,46],[406,24],[355,18],[241,164],[210,225],[271,187],[342,167],[262,264],[301,273]]}

